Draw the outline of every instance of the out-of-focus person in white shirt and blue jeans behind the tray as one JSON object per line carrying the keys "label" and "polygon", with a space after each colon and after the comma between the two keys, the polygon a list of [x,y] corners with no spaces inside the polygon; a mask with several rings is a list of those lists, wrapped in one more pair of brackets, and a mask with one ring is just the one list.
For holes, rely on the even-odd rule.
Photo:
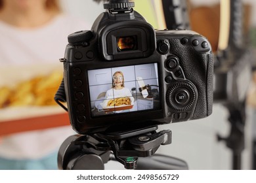
{"label": "out-of-focus person in white shirt and blue jeans behind the tray", "polygon": [[[59,4],[0,0],[0,67],[58,64],[68,35],[91,28],[64,15]],[[72,127],[66,126],[0,137],[0,169],[57,169],[58,148],[72,134]]]}

